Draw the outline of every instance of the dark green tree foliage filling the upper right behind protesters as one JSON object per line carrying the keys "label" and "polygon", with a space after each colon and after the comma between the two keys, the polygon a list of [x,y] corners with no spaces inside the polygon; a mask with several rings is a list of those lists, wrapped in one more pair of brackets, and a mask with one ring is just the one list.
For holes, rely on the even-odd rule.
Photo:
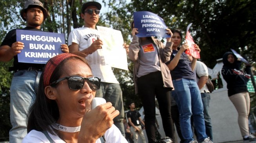
{"label": "dark green tree foliage filling the upper right behind protesters", "polygon": [[253,0],[131,0],[129,5],[132,7],[128,8],[129,12],[151,11],[161,16],[167,27],[181,29],[183,33],[193,23],[192,36],[201,48],[202,61],[211,68],[230,48],[241,52],[249,61],[256,57],[253,50],[256,35],[252,29],[256,2]]}

